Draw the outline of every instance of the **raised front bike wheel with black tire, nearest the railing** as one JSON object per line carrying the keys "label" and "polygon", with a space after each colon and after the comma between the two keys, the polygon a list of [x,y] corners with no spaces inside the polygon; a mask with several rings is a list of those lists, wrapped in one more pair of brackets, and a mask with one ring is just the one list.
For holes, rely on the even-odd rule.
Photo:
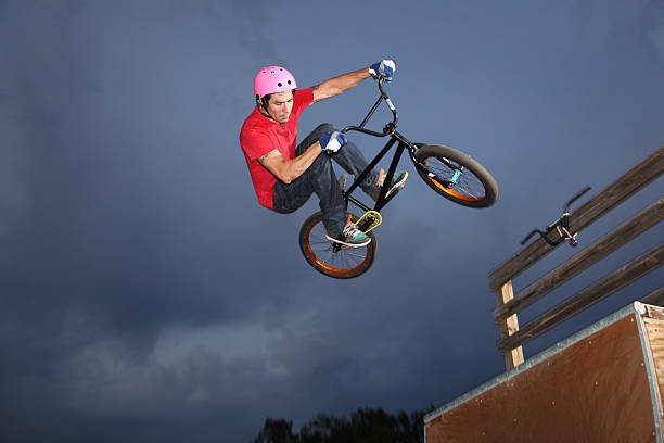
{"label": "raised front bike wheel with black tire, nearest the railing", "polygon": [[[422,180],[451,202],[468,207],[488,207],[498,200],[498,185],[494,177],[477,161],[461,151],[440,144],[424,144],[416,152],[416,160],[433,173],[432,176],[418,167]],[[459,181],[452,187],[445,186],[442,180],[450,179],[458,167],[464,169]]]}

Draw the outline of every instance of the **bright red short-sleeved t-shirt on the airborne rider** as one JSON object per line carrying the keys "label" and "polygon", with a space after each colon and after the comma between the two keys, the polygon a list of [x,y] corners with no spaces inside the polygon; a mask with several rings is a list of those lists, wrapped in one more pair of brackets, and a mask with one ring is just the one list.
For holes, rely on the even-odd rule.
{"label": "bright red short-sleeved t-shirt on the airborne rider", "polygon": [[295,156],[297,117],[312,102],[314,91],[310,88],[298,89],[293,97],[293,110],[286,123],[272,122],[260,114],[256,107],[242,125],[240,145],[252,175],[258,203],[270,210],[272,208],[272,187],[277,182],[277,177],[258,162],[258,157],[273,150],[281,152],[286,161]]}

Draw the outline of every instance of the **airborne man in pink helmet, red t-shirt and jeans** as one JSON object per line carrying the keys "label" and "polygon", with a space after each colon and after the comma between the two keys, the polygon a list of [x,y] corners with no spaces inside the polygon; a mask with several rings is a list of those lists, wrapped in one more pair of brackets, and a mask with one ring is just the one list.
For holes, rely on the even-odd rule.
{"label": "airborne man in pink helmet, red t-shirt and jeans", "polygon": [[[346,205],[331,159],[355,176],[368,162],[355,144],[330,124],[318,126],[296,148],[297,118],[311,103],[345,92],[370,76],[391,80],[395,68],[394,61],[383,60],[299,90],[295,77],[285,68],[268,66],[260,69],[254,79],[256,109],[240,131],[240,144],[258,202],[288,214],[316,193],[330,241],[350,248],[369,244],[371,239],[355,224],[346,224]],[[406,172],[396,173],[388,194],[401,189],[407,177]],[[372,172],[360,188],[375,201],[383,181],[382,172]]]}

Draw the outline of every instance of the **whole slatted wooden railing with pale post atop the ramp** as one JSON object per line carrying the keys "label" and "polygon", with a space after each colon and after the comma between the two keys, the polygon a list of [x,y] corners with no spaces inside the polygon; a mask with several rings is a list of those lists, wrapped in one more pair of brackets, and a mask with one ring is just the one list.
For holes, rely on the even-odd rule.
{"label": "whole slatted wooden railing with pale post atop the ramp", "polygon": [[[573,214],[570,214],[570,232],[580,231],[662,174],[664,174],[664,147],[657,149],[600,193],[579,206]],[[526,324],[521,329],[519,328],[519,319],[516,317],[519,311],[585,270],[662,219],[664,219],[664,199],[651,204],[637,216],[622,224],[613,232],[521,291],[516,296],[513,293],[512,279],[556,246],[546,242],[545,239],[538,238],[491,271],[488,275],[488,286],[496,294],[498,305],[493,313],[493,317],[500,326],[501,333],[497,347],[498,352],[505,356],[507,369],[512,369],[524,363],[522,345],[526,341],[608,296],[649,270],[664,264],[664,246],[660,244],[644,256],[628,263],[622,269],[615,270],[534,321]],[[554,242],[562,241],[562,233],[560,231],[558,233],[552,231],[551,236],[549,237],[550,240]],[[664,304],[662,302],[664,300],[662,290],[653,292],[646,300]]]}

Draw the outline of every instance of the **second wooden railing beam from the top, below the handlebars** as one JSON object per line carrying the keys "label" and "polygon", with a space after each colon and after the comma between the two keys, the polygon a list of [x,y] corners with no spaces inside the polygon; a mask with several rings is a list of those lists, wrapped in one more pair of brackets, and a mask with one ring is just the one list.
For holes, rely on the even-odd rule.
{"label": "second wooden railing beam from the top, below the handlebars", "polygon": [[542,295],[552,291],[582,270],[587,269],[590,265],[599,262],[605,255],[627,243],[646,229],[655,225],[662,218],[664,218],[664,198],[654,202],[630,220],[618,226],[613,232],[604,236],[557,269],[518,293],[516,296],[509,302],[502,305],[499,304],[493,313],[494,320],[496,322],[502,321],[524,307],[529,306]]}

